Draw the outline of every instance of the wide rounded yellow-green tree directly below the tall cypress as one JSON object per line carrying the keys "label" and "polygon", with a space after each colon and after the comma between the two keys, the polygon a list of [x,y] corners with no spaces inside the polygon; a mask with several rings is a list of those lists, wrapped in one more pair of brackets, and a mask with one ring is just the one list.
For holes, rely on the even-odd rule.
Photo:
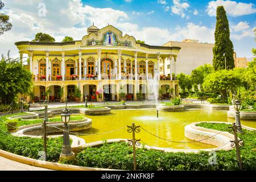
{"label": "wide rounded yellow-green tree directly below the tall cypress", "polygon": [[228,92],[234,93],[242,85],[241,78],[234,74],[233,70],[221,70],[210,73],[203,83],[206,92],[221,94],[225,99],[228,98]]}

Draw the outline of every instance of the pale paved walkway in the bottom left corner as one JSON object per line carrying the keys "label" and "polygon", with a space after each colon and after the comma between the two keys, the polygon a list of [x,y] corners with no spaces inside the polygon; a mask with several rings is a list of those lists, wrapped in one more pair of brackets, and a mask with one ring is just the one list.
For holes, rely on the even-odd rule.
{"label": "pale paved walkway in the bottom left corner", "polygon": [[0,156],[0,171],[52,171],[50,169],[34,167]]}

